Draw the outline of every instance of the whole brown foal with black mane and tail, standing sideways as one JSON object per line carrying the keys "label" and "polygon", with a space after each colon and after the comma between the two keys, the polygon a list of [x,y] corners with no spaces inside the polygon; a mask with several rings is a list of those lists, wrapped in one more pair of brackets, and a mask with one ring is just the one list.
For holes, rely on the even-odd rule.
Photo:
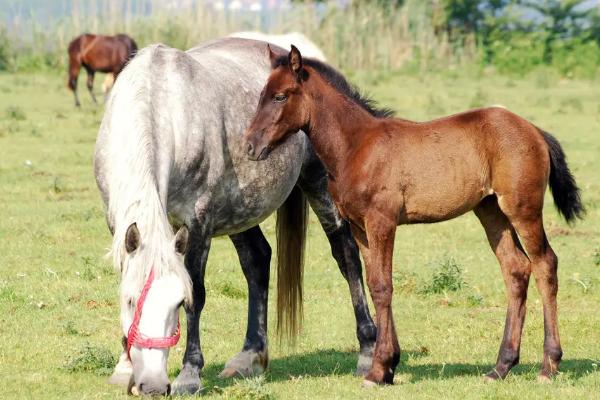
{"label": "whole brown foal with black mane and tail, standing sideways", "polygon": [[273,71],[246,131],[248,155],[266,158],[299,129],[329,173],[329,189],[350,221],[377,311],[377,344],[365,383],[393,383],[400,346],[392,316],[396,226],[431,223],[473,210],[502,269],[508,293],[504,336],[488,380],[519,361],[530,274],[544,309],[541,380],[562,357],[557,326],[557,257],[542,221],[548,182],[567,221],[584,208],[560,144],[502,108],[417,123],[390,118],[331,67],[268,49]]}

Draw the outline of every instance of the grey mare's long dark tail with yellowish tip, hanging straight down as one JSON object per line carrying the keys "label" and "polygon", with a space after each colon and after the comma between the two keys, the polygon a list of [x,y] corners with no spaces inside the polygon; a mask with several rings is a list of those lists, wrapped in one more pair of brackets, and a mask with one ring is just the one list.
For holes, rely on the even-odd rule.
{"label": "grey mare's long dark tail with yellowish tip, hanging straight down", "polygon": [[298,187],[277,210],[277,334],[294,342],[302,324],[306,197]]}

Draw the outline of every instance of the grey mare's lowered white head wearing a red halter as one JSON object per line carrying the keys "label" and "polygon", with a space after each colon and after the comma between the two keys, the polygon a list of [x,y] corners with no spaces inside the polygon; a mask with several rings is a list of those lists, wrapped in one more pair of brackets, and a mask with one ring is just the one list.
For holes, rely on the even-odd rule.
{"label": "grey mare's lowered white head wearing a red halter", "polygon": [[192,302],[189,274],[183,257],[188,230],[173,236],[153,224],[132,223],[115,232],[113,255],[121,268],[121,325],[133,366],[130,390],[168,394],[169,348],[179,339],[179,309]]}

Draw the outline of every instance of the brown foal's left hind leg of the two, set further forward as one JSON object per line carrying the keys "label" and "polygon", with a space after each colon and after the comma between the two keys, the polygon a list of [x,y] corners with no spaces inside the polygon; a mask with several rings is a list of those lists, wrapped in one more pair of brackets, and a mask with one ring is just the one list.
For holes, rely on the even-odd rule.
{"label": "brown foal's left hind leg of the two, set further forward", "polygon": [[474,211],[498,258],[506,285],[508,308],[504,335],[496,366],[486,375],[487,380],[504,379],[510,369],[519,362],[531,264],[514,228],[498,207],[495,196],[485,198]]}

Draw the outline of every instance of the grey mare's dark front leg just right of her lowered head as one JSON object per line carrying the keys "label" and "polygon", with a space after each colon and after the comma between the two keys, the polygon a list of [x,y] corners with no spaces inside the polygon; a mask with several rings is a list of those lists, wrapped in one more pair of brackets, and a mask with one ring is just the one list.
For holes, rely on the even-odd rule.
{"label": "grey mare's dark front leg just right of her lowered head", "polygon": [[192,279],[194,302],[185,310],[187,340],[183,367],[172,385],[174,394],[194,394],[202,389],[200,371],[204,367],[204,357],[200,346],[200,314],[206,300],[204,272],[210,239],[211,233],[206,221],[195,221],[190,229],[190,245],[185,257],[185,265]]}

